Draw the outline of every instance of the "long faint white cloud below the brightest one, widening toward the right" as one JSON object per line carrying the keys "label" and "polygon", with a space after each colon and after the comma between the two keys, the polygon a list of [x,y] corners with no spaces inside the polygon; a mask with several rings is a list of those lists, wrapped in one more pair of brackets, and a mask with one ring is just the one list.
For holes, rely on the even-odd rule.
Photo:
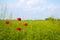
{"label": "long faint white cloud below the brightest one, widening toward the right", "polygon": [[[26,7],[27,8],[27,7]],[[54,4],[49,4],[48,6],[38,6],[38,7],[29,7],[27,9],[27,11],[36,11],[36,10],[41,10],[41,11],[45,11],[45,10],[50,10],[50,11],[54,11],[57,9],[57,6],[55,6]]]}

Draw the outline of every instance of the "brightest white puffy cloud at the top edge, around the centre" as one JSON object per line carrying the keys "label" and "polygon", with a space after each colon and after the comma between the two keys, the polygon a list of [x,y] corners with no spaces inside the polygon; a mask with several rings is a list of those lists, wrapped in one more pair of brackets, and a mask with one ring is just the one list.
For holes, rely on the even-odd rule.
{"label": "brightest white puffy cloud at the top edge, around the centre", "polygon": [[19,0],[19,2],[17,3],[17,7],[22,7],[22,6],[32,6],[33,4],[37,4],[39,2],[39,0]]}

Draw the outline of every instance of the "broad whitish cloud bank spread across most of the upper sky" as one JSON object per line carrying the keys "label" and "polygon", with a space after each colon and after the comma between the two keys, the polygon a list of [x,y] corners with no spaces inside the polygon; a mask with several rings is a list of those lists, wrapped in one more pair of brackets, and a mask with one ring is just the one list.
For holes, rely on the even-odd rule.
{"label": "broad whitish cloud bank spread across most of the upper sky", "polygon": [[47,4],[46,0],[19,0],[17,3],[8,4],[8,8],[10,9],[22,8],[25,11],[36,11],[36,10],[45,11],[47,9],[54,11],[55,9],[57,9],[57,7],[52,3],[47,6],[46,4]]}

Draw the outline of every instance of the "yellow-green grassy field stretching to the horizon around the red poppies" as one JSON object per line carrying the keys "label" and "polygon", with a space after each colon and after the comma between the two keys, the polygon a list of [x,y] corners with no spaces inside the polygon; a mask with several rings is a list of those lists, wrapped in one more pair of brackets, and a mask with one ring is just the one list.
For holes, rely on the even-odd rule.
{"label": "yellow-green grassy field stretching to the horizon around the red poppies", "polygon": [[[0,20],[0,40],[60,40],[60,21],[57,20],[10,20],[9,25],[5,22]],[[22,30],[16,30],[17,27]]]}

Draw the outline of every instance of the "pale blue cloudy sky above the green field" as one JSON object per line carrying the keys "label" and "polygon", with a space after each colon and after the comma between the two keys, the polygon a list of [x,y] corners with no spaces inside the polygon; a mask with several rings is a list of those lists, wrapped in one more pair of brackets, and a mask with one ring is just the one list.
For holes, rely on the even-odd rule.
{"label": "pale blue cloudy sky above the green field", "polygon": [[[0,0],[1,8],[6,7],[6,18],[12,13],[13,19],[60,18],[60,0]],[[2,10],[3,12],[3,10]]]}

